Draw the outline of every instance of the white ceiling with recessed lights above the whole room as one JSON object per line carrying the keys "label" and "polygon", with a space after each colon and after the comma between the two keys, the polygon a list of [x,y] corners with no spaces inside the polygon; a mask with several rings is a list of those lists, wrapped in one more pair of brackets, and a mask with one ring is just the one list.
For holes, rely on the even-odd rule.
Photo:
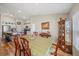
{"label": "white ceiling with recessed lights above the whole room", "polygon": [[0,3],[0,13],[26,19],[36,15],[68,13],[72,3]]}

